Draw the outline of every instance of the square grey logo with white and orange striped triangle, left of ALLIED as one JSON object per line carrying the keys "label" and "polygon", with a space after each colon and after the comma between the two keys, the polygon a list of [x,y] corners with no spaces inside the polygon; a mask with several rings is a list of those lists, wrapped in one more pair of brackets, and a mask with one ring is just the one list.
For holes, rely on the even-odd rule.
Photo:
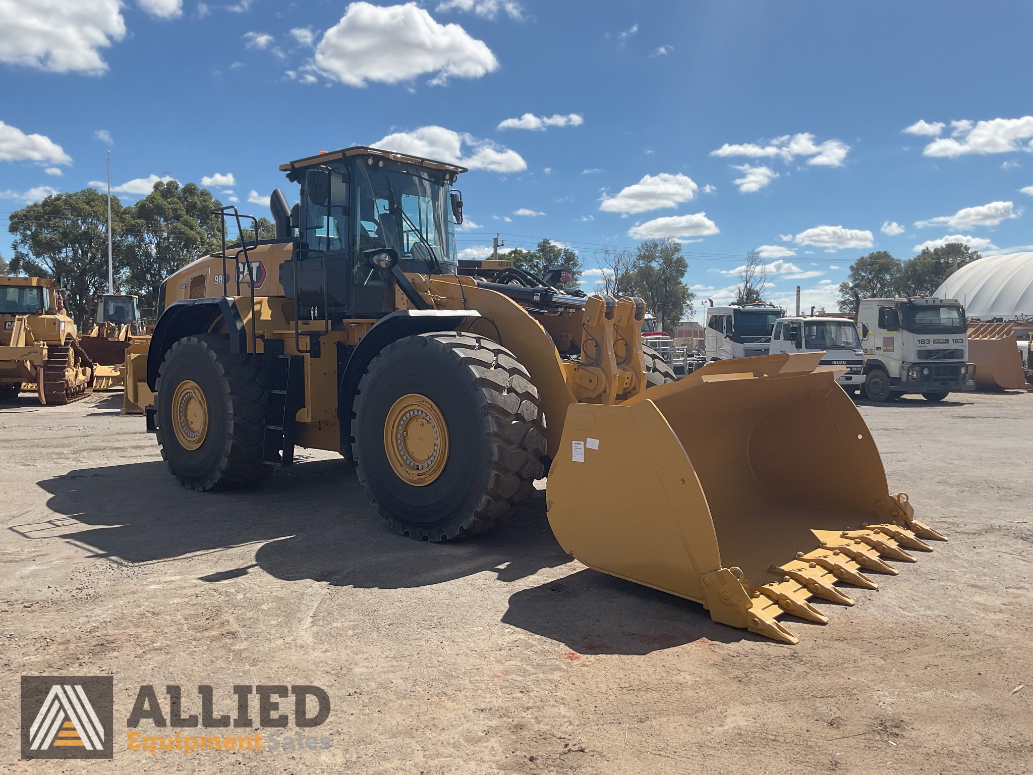
{"label": "square grey logo with white and orange striped triangle, left of ALLIED", "polygon": [[22,758],[112,758],[111,676],[22,676]]}

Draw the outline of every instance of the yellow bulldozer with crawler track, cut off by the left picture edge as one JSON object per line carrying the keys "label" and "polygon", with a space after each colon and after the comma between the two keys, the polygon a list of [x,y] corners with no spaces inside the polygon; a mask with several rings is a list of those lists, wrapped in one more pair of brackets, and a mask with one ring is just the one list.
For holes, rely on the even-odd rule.
{"label": "yellow bulldozer with crawler track, cut off by the left picture edge", "polygon": [[93,362],[54,280],[0,277],[0,399],[35,384],[39,402],[67,404],[93,392]]}

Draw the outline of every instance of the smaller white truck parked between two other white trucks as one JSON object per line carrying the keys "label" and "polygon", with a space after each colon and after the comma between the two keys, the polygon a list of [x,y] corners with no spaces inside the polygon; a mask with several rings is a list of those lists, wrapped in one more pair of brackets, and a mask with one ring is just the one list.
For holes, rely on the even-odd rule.
{"label": "smaller white truck parked between two other white trucks", "polygon": [[781,317],[775,321],[770,352],[817,352],[824,350],[822,366],[842,366],[846,374],[836,381],[847,393],[857,393],[865,383],[864,360],[857,327],[846,317]]}

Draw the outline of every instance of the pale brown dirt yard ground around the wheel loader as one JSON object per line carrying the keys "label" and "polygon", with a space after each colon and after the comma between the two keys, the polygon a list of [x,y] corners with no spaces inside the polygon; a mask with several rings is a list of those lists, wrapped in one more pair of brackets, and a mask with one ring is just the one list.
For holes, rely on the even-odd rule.
{"label": "pale brown dirt yard ground around the wheel loader", "polygon": [[[0,771],[1033,771],[1033,394],[862,407],[891,492],[950,541],[819,601],[825,626],[789,619],[799,646],[572,561],[540,493],[438,546],[388,532],[327,454],[191,492],[120,403],[0,405]],[[22,675],[113,675],[114,763],[19,762]],[[143,684],[185,714],[210,685],[217,715],[237,684],[318,685],[333,709],[303,732],[330,747],[127,750]]]}

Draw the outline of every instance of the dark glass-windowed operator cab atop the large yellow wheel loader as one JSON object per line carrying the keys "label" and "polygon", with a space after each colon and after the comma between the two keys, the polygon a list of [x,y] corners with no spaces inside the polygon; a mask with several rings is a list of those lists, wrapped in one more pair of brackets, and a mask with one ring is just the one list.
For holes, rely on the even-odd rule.
{"label": "dark glass-windowed operator cab atop the large yellow wheel loader", "polygon": [[401,273],[457,273],[451,184],[464,167],[349,148],[281,169],[301,186],[296,246],[280,269],[300,319],[380,317]]}

